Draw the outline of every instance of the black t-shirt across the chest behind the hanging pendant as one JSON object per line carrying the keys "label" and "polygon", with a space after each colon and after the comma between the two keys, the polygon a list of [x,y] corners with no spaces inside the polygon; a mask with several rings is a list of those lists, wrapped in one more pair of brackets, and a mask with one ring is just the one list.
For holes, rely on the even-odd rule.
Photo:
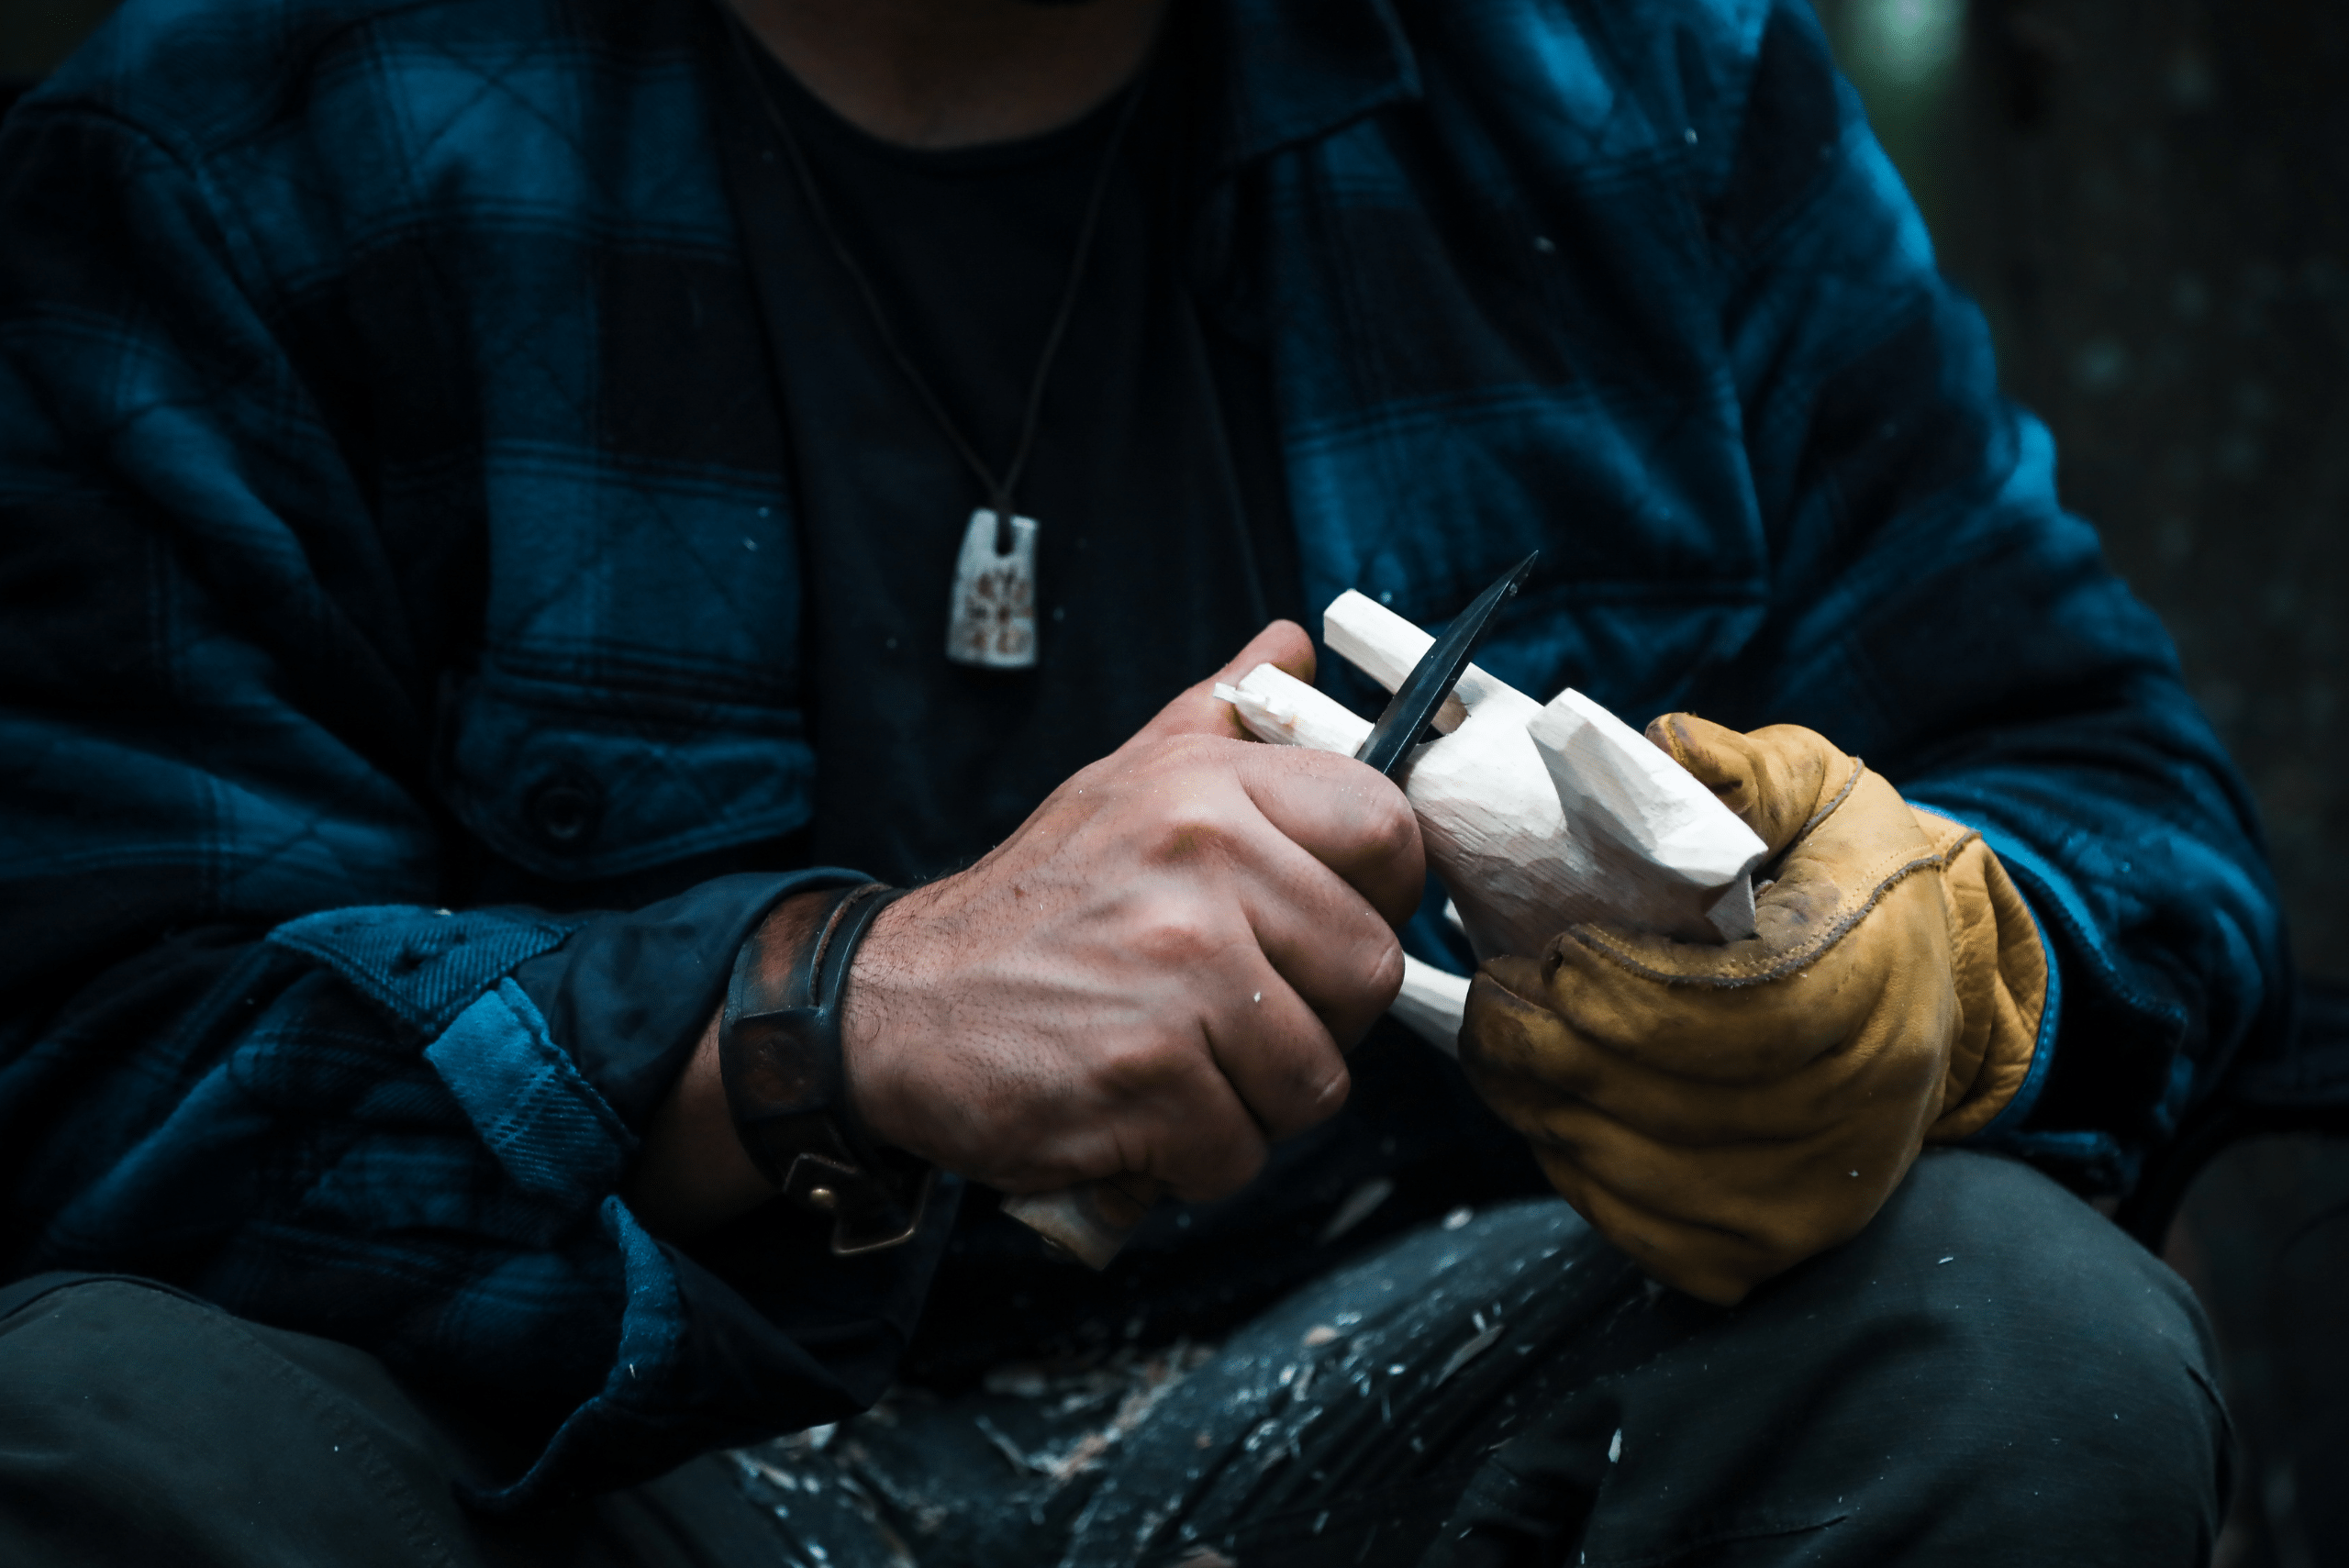
{"label": "black t-shirt across the chest behind the hanging pendant", "polygon": [[[789,411],[815,671],[820,864],[907,883],[968,864],[1271,615],[1287,516],[1261,369],[1212,329],[1167,228],[1177,103],[1151,75],[1085,120],[949,153],[881,143],[756,66],[897,343],[984,462],[1010,465],[1102,160],[1099,235],[1017,512],[1038,519],[1036,669],[947,660],[956,549],[987,491],[893,364],[768,129],[752,200],[789,223],[754,261]],[[1238,404],[1238,406],[1233,406]],[[1271,568],[1261,556],[1271,554]]]}

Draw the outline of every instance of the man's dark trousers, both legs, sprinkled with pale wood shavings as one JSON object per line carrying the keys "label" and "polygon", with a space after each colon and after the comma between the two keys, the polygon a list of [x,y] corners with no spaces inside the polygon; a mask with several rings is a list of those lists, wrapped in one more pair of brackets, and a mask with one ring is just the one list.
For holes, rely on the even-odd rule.
{"label": "man's dark trousers, both legs, sprinkled with pale wood shavings", "polygon": [[0,1293],[0,1563],[879,1568],[2201,1563],[2185,1286],[2020,1164],[1926,1155],[1722,1312],[1564,1204],[1409,1235],[1214,1352],[1005,1368],[529,1519],[366,1354],[134,1279]]}

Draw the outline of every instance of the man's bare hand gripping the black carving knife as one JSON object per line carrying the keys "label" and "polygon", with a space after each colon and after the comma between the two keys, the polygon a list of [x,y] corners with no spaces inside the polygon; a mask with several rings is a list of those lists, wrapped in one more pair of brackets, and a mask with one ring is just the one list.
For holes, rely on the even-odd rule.
{"label": "man's bare hand gripping the black carving knife", "polygon": [[[1217,678],[1261,662],[1311,678],[1313,643],[1276,622]],[[843,1049],[881,1138],[1010,1192],[1130,1171],[1203,1199],[1346,1101],[1419,824],[1360,763],[1240,739],[1212,685],[874,922]]]}

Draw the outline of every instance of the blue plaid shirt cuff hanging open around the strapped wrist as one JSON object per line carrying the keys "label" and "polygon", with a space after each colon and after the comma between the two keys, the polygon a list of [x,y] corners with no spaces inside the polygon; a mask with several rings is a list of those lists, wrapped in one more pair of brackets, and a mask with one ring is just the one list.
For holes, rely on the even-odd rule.
{"label": "blue plaid shirt cuff hanging open around the strapped wrist", "polygon": [[[430,1047],[451,1087],[479,1087],[458,1099],[517,1185],[606,1192],[597,1218],[625,1282],[601,1390],[519,1476],[467,1486],[477,1507],[630,1486],[709,1448],[853,1415],[895,1378],[961,1181],[940,1176],[911,1242],[857,1258],[832,1256],[829,1218],[782,1202],[679,1246],[611,1197],[625,1174],[615,1157],[684,1070],[759,920],[787,897],[867,880],[843,869],[728,876],[592,915]],[[474,1045],[482,1030],[498,1040]]]}

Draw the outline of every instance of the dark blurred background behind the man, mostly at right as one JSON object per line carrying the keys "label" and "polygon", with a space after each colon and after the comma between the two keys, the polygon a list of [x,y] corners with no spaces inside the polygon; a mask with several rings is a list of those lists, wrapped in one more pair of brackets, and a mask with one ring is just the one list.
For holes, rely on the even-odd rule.
{"label": "dark blurred background behind the man, mostly at right", "polygon": [[[2250,777],[2302,969],[2349,981],[2349,2],[1818,5],[2065,502]],[[0,75],[108,9],[0,0]],[[2246,1439],[2220,1563],[2349,1563],[2349,1143],[2239,1145],[2168,1256]]]}

